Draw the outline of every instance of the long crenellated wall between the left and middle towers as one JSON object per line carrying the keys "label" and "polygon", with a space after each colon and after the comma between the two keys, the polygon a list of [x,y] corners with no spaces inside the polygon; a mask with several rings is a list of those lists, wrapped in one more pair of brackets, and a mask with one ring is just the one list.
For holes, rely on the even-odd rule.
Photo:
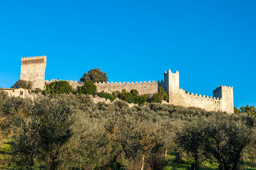
{"label": "long crenellated wall between the left and middle towers", "polygon": [[[65,81],[65,80],[57,80],[52,79],[51,81],[45,81],[45,84],[50,84],[51,82],[55,81]],[[77,82],[77,81],[67,81],[69,82],[72,88],[76,89],[78,86],[83,86],[84,83]],[[131,91],[131,89],[136,89],[140,93],[143,94],[154,94],[157,93],[159,87],[164,88],[163,81],[144,81],[144,82],[97,82],[95,83],[97,86],[97,91],[105,91],[107,93],[112,93],[113,91],[122,91],[125,89],[126,91]]]}

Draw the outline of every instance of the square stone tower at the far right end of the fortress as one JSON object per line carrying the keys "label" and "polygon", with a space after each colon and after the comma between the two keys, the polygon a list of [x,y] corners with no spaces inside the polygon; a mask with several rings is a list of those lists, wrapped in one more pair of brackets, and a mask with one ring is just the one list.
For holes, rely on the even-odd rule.
{"label": "square stone tower at the far right end of the fortress", "polygon": [[233,87],[220,86],[214,89],[213,97],[222,98],[222,111],[231,113],[234,112]]}

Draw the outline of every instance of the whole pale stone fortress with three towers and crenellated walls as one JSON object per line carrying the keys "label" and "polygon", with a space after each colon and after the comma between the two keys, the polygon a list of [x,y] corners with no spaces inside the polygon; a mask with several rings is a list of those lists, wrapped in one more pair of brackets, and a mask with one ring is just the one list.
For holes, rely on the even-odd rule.
{"label": "whole pale stone fortress with three towers and crenellated walls", "polygon": [[[46,84],[58,81],[52,79],[45,81],[46,56],[21,58],[20,79],[33,82],[33,88],[44,89]],[[59,80],[61,81],[61,80]],[[72,88],[83,86],[77,81],[68,81]],[[99,82],[95,83],[97,91],[112,93],[113,91],[130,91],[137,89],[140,95],[157,93],[159,87],[163,87],[169,96],[168,103],[183,107],[200,107],[207,111],[234,112],[233,87],[218,86],[214,89],[213,97],[188,93],[179,87],[179,72],[171,70],[164,72],[164,81],[144,82]]]}

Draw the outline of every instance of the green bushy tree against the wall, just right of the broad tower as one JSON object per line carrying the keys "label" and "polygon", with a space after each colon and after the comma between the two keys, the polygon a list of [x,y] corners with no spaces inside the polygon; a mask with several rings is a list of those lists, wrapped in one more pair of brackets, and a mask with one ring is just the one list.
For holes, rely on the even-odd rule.
{"label": "green bushy tree against the wall, just right of the broad tower", "polygon": [[56,81],[51,84],[47,84],[44,91],[42,91],[43,95],[51,95],[51,97],[55,97],[55,95],[60,94],[69,94],[74,92],[72,86],[67,81]]}

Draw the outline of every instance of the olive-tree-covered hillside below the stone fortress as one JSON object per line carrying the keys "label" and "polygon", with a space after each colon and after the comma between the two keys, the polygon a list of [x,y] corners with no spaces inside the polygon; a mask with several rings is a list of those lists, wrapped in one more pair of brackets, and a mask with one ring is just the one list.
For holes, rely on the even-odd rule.
{"label": "olive-tree-covered hillside below the stone fortress", "polygon": [[[104,94],[101,94],[104,96]],[[255,168],[255,116],[169,104],[94,104],[87,95],[8,97],[0,91],[6,168]],[[7,149],[5,149],[7,150]]]}

